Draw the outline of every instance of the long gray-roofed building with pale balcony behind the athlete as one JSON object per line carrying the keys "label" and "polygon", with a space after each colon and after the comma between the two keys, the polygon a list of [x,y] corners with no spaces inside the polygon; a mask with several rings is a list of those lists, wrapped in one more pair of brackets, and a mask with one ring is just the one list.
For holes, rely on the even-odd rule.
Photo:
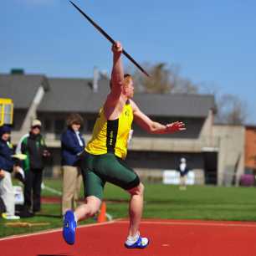
{"label": "long gray-roofed building with pale balcony behind the athlete", "polygon": [[[100,106],[109,92],[109,79],[97,70],[92,79],[0,74],[0,88],[0,97],[12,98],[14,103],[13,142],[17,143],[28,132],[31,120],[37,116],[44,124],[46,142],[54,155],[48,172],[58,176],[59,136],[67,115],[76,112],[84,117],[84,138],[88,141]],[[213,95],[139,93],[134,100],[153,120],[162,123],[180,120],[187,126],[187,131],[156,136],[134,125],[127,161],[142,178],[161,179],[162,171],[176,169],[181,157],[187,158],[188,165],[196,173],[197,184],[223,184],[227,180],[223,173],[231,166],[233,173],[236,168],[236,173],[243,173],[243,165],[237,163],[243,159],[243,151],[239,159],[236,155],[226,161],[225,153],[233,141],[226,140],[228,127],[214,125]],[[240,148],[243,139],[238,142]]]}

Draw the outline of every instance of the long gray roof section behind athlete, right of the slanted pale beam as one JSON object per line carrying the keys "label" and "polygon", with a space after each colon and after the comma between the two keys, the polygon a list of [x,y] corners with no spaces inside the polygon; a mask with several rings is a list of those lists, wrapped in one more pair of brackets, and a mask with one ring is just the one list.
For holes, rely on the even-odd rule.
{"label": "long gray roof section behind athlete, right of the slanted pale beam", "polygon": [[[109,80],[100,79],[97,93],[92,79],[49,79],[49,91],[38,111],[97,113],[109,92]],[[213,95],[136,94],[134,100],[146,115],[206,117],[214,109]]]}

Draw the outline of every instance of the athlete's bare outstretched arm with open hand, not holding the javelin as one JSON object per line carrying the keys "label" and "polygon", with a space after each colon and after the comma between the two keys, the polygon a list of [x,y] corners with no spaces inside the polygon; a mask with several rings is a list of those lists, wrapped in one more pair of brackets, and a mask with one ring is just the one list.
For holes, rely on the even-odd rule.
{"label": "athlete's bare outstretched arm with open hand, not holding the javelin", "polygon": [[171,124],[162,125],[158,122],[151,120],[147,115],[141,112],[136,103],[132,100],[131,106],[133,109],[133,115],[136,124],[140,125],[143,130],[149,133],[167,134],[176,131],[186,130],[185,124],[183,122],[177,121]]}

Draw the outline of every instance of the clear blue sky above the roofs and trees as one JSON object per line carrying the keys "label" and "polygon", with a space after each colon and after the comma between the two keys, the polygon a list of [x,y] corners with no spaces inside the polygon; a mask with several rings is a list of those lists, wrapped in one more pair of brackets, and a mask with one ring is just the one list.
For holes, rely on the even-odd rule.
{"label": "clear blue sky above the roofs and trees", "polygon": [[[207,91],[238,96],[256,125],[256,1],[73,2],[138,63],[178,65]],[[68,0],[0,1],[0,73],[88,78],[94,67],[110,73],[111,56],[110,43]]]}

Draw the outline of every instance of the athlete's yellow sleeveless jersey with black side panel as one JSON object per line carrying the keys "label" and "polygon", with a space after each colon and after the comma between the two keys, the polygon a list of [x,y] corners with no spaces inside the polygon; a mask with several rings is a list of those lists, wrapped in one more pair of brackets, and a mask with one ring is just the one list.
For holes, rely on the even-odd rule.
{"label": "athlete's yellow sleeveless jersey with black side panel", "polygon": [[125,159],[127,141],[131,131],[133,110],[129,100],[125,104],[118,119],[106,120],[103,108],[95,122],[91,140],[85,151],[93,155],[103,155],[109,152]]}

